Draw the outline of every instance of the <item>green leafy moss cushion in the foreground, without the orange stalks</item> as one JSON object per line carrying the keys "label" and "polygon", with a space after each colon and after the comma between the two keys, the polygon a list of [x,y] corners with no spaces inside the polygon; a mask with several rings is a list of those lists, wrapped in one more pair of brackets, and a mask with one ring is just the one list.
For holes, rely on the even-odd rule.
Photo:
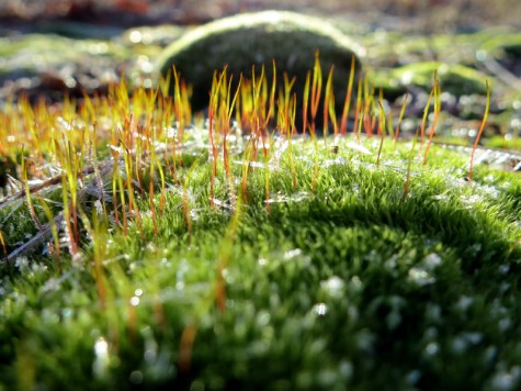
{"label": "green leafy moss cushion in the foreground, without the orange stalks", "polygon": [[[344,139],[337,155],[319,144],[312,192],[314,146],[296,145],[297,189],[286,149],[270,174],[269,211],[264,170],[249,172],[238,225],[229,209],[211,206],[203,155],[186,190],[168,179],[159,234],[144,214],[129,235],[94,243],[102,277],[93,248],[80,264],[64,260],[61,277],[47,258],[21,259],[15,272],[3,264],[1,381],[34,373],[32,386],[47,388],[518,387],[519,175],[478,165],[468,183],[468,155],[433,146],[427,166],[415,160],[404,198],[409,143],[386,142],[377,166],[378,143],[364,142],[371,155],[362,155]],[[229,204],[220,165],[217,179],[215,197]],[[186,329],[196,332],[190,360],[180,348]]]}

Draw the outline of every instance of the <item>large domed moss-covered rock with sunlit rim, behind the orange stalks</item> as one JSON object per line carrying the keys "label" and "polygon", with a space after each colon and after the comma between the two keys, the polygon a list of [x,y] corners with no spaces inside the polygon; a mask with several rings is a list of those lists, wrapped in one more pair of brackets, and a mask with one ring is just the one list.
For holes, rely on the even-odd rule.
{"label": "large domed moss-covered rock with sunlit rim, behind the orange stalks", "polygon": [[339,97],[337,101],[343,101],[351,58],[355,56],[355,70],[359,71],[363,47],[329,22],[298,13],[243,13],[202,25],[168,46],[157,66],[161,75],[175,66],[181,77],[193,86],[192,103],[197,110],[207,105],[213,74],[225,65],[235,75],[235,80],[240,74],[251,77],[252,65],[259,75],[264,65],[271,80],[274,59],[279,83],[282,85],[283,72],[295,76],[294,90],[302,97],[316,51],[319,51],[324,83],[335,65],[335,94]]}

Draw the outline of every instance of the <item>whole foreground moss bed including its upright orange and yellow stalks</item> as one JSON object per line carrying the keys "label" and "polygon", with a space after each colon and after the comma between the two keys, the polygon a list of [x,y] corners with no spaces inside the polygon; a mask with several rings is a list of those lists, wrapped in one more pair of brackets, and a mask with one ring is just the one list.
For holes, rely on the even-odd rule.
{"label": "whole foreground moss bed including its upright orange and yellow stalks", "polygon": [[4,105],[4,387],[520,387],[519,155],[314,64]]}

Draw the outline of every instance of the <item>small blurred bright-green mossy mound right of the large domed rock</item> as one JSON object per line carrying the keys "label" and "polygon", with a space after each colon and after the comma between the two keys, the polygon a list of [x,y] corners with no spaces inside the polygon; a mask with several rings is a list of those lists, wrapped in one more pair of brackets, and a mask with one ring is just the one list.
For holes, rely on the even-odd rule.
{"label": "small blurred bright-green mossy mound right of the large domed rock", "polygon": [[434,81],[434,71],[438,72],[441,90],[457,97],[474,93],[486,94],[485,80],[492,81],[490,76],[464,65],[428,62],[405,65],[388,72],[381,72],[375,76],[373,82],[377,87],[390,90],[416,86],[430,91]]}

